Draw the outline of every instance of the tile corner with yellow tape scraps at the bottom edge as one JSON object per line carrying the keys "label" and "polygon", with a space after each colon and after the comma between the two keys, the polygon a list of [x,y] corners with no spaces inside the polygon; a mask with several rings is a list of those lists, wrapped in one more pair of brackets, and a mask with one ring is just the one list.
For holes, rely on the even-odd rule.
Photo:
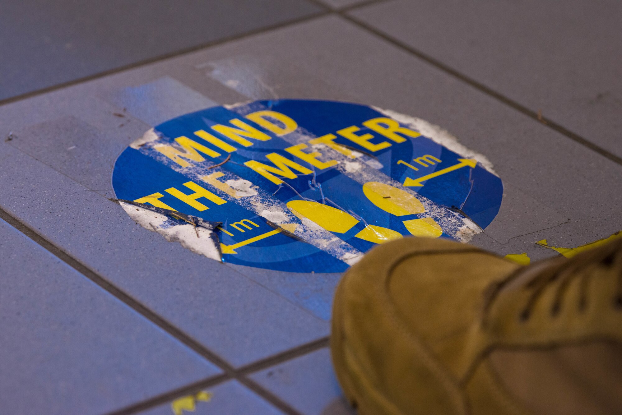
{"label": "tile corner with yellow tape scraps at the bottom edge", "polygon": [[238,381],[231,380],[213,388],[175,399],[170,403],[156,406],[156,408],[141,412],[139,415],[183,415],[188,413],[193,415],[282,414],[279,409],[271,406],[253,391],[248,390]]}

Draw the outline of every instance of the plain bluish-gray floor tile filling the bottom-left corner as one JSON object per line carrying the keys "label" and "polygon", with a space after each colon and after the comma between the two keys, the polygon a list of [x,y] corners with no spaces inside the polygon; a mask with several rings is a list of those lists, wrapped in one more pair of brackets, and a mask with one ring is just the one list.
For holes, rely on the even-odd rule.
{"label": "plain bluish-gray floor tile filling the bottom-left corner", "polygon": [[2,413],[102,414],[218,368],[0,220]]}

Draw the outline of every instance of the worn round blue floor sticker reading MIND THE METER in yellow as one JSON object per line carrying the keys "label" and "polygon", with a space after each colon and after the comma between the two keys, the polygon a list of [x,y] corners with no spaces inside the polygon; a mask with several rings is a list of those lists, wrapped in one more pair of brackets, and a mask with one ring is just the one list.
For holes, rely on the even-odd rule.
{"label": "worn round blue floor sticker reading MIND THE METER in yellow", "polygon": [[406,236],[466,242],[503,196],[488,160],[436,125],[297,99],[164,122],[121,153],[113,186],[132,219],[193,252],[305,273]]}

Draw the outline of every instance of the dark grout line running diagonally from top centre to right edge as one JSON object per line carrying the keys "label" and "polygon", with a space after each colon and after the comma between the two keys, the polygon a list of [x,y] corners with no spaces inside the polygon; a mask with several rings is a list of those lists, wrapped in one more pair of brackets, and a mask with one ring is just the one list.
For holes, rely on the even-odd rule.
{"label": "dark grout line running diagonally from top centre to right edge", "polygon": [[[315,1],[315,0],[312,0],[312,1]],[[384,1],[386,1],[386,0],[379,0],[378,2],[384,2]],[[407,45],[406,43],[402,42],[401,40],[395,39],[391,35],[386,34],[385,32],[382,32],[381,30],[376,29],[375,27],[367,24],[366,22],[361,21],[360,19],[357,19],[354,16],[346,14],[346,12],[350,11],[351,9],[355,9],[355,8],[356,7],[350,7],[350,8],[338,10],[338,11],[335,11],[335,14],[338,14],[339,16],[343,17],[343,19],[345,19],[346,21],[349,21],[349,22],[357,25],[361,29],[364,29],[364,30],[366,30],[368,32],[371,32],[372,34],[380,37],[381,39],[384,39],[386,42],[389,42],[392,45],[394,45],[394,46],[396,46],[398,48],[401,48],[402,50],[410,53],[411,55],[414,55],[415,57],[417,57],[417,58],[419,58],[421,60],[424,60],[425,62],[427,62],[430,65],[434,66],[435,68],[437,68],[437,69],[447,73],[448,75],[451,75],[454,78],[457,78],[458,80],[463,81],[466,84],[469,84],[473,88],[477,89],[478,91],[480,91],[482,93],[485,93],[486,95],[490,96],[491,98],[494,98],[497,101],[499,101],[499,102],[501,102],[503,104],[506,104],[507,106],[515,109],[516,111],[519,111],[522,114],[524,114],[524,115],[526,115],[528,117],[531,117],[532,119],[536,120],[537,122],[540,122],[541,124],[546,125],[550,129],[559,132],[560,134],[564,135],[565,137],[569,138],[570,140],[573,140],[574,142],[577,142],[578,144],[583,145],[583,147],[587,147],[590,150],[592,150],[593,152],[596,152],[596,153],[600,154],[601,156],[603,156],[605,158],[608,158],[612,162],[618,163],[619,165],[622,165],[622,157],[618,157],[617,155],[611,153],[610,151],[605,150],[605,148],[600,147],[599,145],[594,144],[590,140],[587,140],[587,139],[581,137],[580,135],[578,135],[575,132],[572,132],[571,130],[567,129],[563,125],[557,124],[557,122],[552,121],[551,119],[549,119],[547,117],[540,116],[536,111],[532,111],[528,107],[523,106],[522,104],[519,104],[518,102],[514,101],[513,99],[508,98],[508,97],[504,96],[503,94],[498,93],[497,91],[494,91],[494,89],[489,88],[485,84],[480,83],[480,82],[474,80],[473,78],[470,78],[469,76],[464,75],[463,73],[460,73],[459,71],[455,70],[451,66],[445,65],[445,63],[440,62],[439,60],[431,57],[430,55],[427,55],[426,53],[421,52],[420,50],[417,50],[414,47],[411,47],[410,45]]]}

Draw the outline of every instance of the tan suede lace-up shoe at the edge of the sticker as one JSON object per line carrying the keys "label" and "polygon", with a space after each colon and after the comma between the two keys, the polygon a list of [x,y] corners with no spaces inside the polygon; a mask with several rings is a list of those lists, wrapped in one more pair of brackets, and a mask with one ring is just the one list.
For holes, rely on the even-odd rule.
{"label": "tan suede lace-up shoe at the edge of the sticker", "polygon": [[371,250],[331,348],[361,415],[622,414],[622,240],[521,267],[448,240]]}

